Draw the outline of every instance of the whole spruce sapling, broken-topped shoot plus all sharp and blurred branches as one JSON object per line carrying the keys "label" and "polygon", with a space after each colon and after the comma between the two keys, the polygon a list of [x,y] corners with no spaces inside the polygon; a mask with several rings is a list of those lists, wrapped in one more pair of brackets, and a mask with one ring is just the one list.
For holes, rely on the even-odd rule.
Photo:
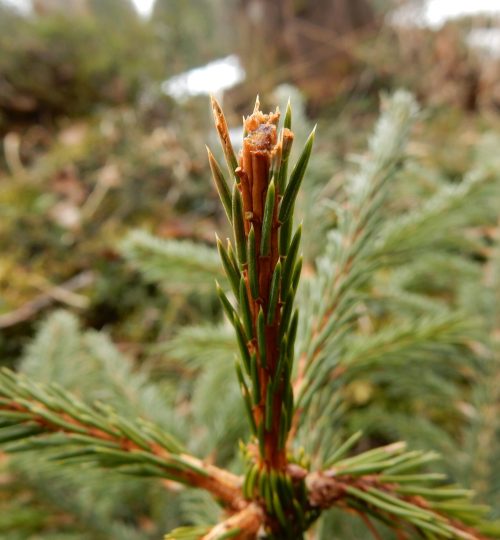
{"label": "whole spruce sapling, broken-topped shoot plus all sharp and blurred branches", "polygon": [[433,179],[405,150],[415,101],[385,97],[368,153],[305,209],[320,239],[293,221],[314,132],[288,165],[291,108],[278,136],[257,107],[237,160],[214,103],[232,240],[121,245],[167,290],[219,281],[231,325],[186,326],[134,368],[57,312],[2,371],[8,538],[498,538],[495,160]]}

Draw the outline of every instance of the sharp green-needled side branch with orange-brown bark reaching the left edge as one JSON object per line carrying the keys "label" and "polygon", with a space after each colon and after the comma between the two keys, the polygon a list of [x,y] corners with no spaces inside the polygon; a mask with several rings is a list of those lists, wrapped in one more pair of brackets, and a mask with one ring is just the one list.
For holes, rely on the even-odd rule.
{"label": "sharp green-needled side branch with orange-brown bark reaching the left edge", "polygon": [[59,387],[35,385],[7,369],[0,373],[0,443],[6,452],[52,447],[61,450],[53,456],[61,462],[94,462],[201,488],[231,511],[248,504],[238,476],[187,454],[158,426],[131,422],[103,405],[89,407]]}

